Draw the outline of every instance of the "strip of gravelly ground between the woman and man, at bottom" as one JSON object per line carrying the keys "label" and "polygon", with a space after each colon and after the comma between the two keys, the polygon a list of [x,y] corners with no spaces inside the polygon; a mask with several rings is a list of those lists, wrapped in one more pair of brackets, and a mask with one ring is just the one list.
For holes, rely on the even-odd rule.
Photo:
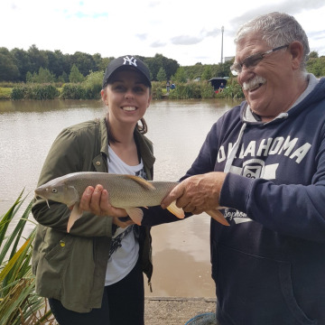
{"label": "strip of gravelly ground between the woman and man, at bottom", "polygon": [[213,298],[146,297],[144,301],[145,325],[184,325],[196,315],[214,311]]}

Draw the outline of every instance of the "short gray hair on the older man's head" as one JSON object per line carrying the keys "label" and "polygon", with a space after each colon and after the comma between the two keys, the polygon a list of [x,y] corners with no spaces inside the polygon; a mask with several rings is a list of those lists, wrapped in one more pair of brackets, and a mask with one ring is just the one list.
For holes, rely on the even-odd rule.
{"label": "short gray hair on the older man's head", "polygon": [[283,13],[262,14],[244,23],[239,27],[235,44],[244,38],[248,33],[258,32],[262,35],[262,40],[265,41],[271,48],[290,44],[298,41],[303,46],[303,58],[301,68],[305,70],[305,64],[308,60],[310,52],[308,37],[303,31],[302,26],[294,17]]}

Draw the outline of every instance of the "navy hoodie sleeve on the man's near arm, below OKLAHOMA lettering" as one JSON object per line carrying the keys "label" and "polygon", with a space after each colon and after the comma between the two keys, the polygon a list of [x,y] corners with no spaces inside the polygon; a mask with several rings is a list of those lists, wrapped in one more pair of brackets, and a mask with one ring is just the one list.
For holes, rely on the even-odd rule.
{"label": "navy hoodie sleeve on the man's near arm, below OKLAHOMA lettering", "polygon": [[219,202],[280,234],[325,241],[324,171],[320,163],[310,185],[274,184],[228,173]]}

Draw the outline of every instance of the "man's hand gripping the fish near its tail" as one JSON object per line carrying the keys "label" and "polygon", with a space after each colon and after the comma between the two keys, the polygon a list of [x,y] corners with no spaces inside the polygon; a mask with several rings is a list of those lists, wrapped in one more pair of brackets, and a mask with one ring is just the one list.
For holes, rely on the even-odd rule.
{"label": "man's hand gripping the fish near its tail", "polygon": [[225,180],[224,172],[209,172],[191,176],[181,181],[162,201],[162,208],[168,207],[173,200],[185,212],[200,214],[219,207],[220,191]]}

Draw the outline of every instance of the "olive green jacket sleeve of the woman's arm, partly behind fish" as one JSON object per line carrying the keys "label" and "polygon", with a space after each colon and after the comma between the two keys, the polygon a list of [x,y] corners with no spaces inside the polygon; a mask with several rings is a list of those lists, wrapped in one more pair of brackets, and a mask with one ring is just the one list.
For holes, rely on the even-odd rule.
{"label": "olive green jacket sleeve of the woman's arm, partly behind fish", "polygon": [[[42,167],[38,185],[70,172],[90,171],[90,163],[84,162],[84,155],[87,154],[83,152],[84,150],[83,140],[77,133],[72,132],[69,128],[63,130],[51,145],[50,152]],[[89,160],[91,161],[90,158]],[[45,200],[35,200],[32,205],[33,217],[45,227],[66,232],[70,209],[65,204],[51,200],[49,205],[50,209]],[[98,217],[89,212],[84,212],[83,216],[71,228],[70,234],[83,237],[111,237],[112,218]]]}

